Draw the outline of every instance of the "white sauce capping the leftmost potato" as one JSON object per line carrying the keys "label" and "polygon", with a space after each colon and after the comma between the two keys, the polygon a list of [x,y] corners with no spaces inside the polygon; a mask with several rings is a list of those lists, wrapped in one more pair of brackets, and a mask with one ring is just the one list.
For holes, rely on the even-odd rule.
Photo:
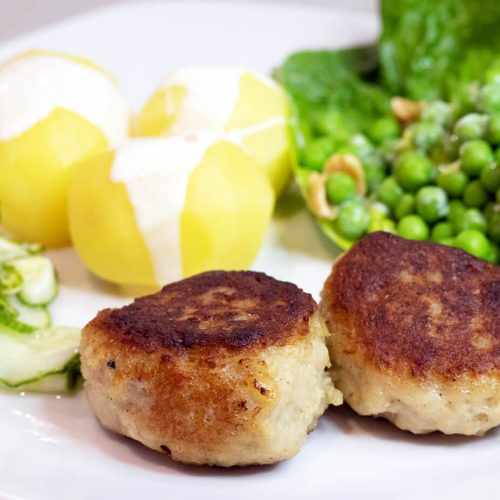
{"label": "white sauce capping the leftmost potato", "polygon": [[127,137],[129,107],[110,77],[57,55],[21,57],[0,66],[0,140],[13,139],[64,108],[98,127],[110,146]]}

